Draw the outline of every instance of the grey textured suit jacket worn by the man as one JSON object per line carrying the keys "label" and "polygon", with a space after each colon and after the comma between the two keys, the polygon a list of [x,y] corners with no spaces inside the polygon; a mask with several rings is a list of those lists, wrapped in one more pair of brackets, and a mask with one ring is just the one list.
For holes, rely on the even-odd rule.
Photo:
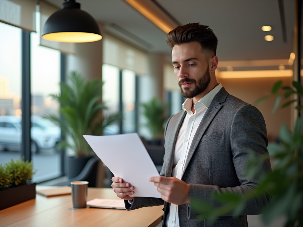
{"label": "grey textured suit jacket worn by the man", "polygon": [[[165,156],[160,175],[171,177],[175,143],[185,111],[171,116],[165,127]],[[242,100],[229,95],[223,88],[212,100],[193,138],[181,180],[189,184],[190,198],[199,198],[217,205],[214,192],[244,194],[258,185],[258,176],[271,171],[269,160],[263,163],[255,178],[248,178],[245,166],[249,150],[256,156],[268,155],[265,121],[260,111]],[[210,224],[198,221],[196,213],[187,204],[178,206],[180,226],[247,226],[246,215],[260,214],[270,199],[269,195],[251,200],[238,217],[219,217]],[[164,204],[163,219],[169,211],[167,202],[158,198],[135,197],[132,204],[125,201],[128,210]],[[162,226],[165,226],[164,222]]]}

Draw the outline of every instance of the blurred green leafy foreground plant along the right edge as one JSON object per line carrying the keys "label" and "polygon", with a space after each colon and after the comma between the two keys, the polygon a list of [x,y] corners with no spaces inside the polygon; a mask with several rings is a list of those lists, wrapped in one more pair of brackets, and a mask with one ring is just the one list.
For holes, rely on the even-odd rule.
{"label": "blurred green leafy foreground plant along the right edge", "polygon": [[[303,100],[303,88],[300,83],[293,81],[293,87],[282,87],[282,81],[278,81],[272,88],[271,94],[259,99],[256,104],[261,104],[269,97],[276,96],[273,112],[279,107],[283,97],[288,98],[296,95],[297,99],[286,101],[282,108],[295,103],[299,98]],[[268,225],[275,218],[285,216],[285,227],[303,226],[303,127],[302,127],[302,105],[295,106],[299,110],[299,117],[295,128],[290,130],[286,124],[281,126],[279,142],[268,144],[268,152],[274,160],[272,172],[264,173],[259,179],[259,185],[255,190],[243,196],[233,193],[222,192],[214,194],[213,197],[222,206],[214,207],[205,201],[193,200],[191,206],[199,213],[199,217],[208,216],[215,220],[217,217],[232,213],[241,214],[246,203],[257,196],[269,192],[271,201],[262,210],[262,220]],[[255,157],[251,154],[250,161],[246,166],[246,174],[249,177],[256,176],[258,167],[262,162],[268,160],[268,156]]]}

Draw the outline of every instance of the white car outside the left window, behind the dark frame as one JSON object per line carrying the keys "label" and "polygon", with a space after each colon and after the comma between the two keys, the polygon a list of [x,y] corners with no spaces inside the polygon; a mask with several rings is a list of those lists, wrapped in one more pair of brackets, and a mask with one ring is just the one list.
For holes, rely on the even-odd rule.
{"label": "white car outside the left window, behind the dark frame", "polygon": [[[21,117],[0,116],[0,149],[20,150],[22,141]],[[61,129],[49,120],[32,116],[31,152],[53,148],[61,140]]]}

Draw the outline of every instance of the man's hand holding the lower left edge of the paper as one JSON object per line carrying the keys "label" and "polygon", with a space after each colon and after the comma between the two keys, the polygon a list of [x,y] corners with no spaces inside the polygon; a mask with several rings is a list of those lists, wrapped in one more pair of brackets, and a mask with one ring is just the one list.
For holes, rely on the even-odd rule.
{"label": "man's hand holding the lower left edge of the paper", "polygon": [[130,197],[129,195],[134,194],[133,191],[135,189],[134,186],[131,186],[130,183],[123,182],[122,178],[114,176],[112,178],[112,188],[114,189],[114,192],[116,192],[117,196],[120,199],[124,200],[132,200],[134,197]]}

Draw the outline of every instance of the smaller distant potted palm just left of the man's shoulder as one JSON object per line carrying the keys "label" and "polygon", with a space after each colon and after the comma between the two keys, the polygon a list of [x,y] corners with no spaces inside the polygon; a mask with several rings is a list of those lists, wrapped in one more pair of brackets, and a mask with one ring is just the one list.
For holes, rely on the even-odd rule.
{"label": "smaller distant potted palm just left of the man's shoulder", "polygon": [[146,118],[145,126],[151,133],[150,145],[161,145],[164,139],[164,123],[168,119],[168,104],[157,98],[151,99],[149,102],[142,103],[143,115]]}

